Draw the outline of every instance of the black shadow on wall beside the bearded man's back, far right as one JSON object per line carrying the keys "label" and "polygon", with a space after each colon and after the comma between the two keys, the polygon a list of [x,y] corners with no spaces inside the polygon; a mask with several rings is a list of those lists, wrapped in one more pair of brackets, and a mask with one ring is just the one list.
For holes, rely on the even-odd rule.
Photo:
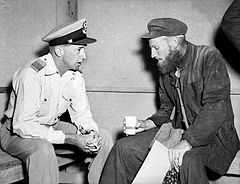
{"label": "black shadow on wall beside the bearded man's back, far right", "polygon": [[216,31],[214,43],[232,69],[240,74],[240,53],[228,40],[220,27]]}

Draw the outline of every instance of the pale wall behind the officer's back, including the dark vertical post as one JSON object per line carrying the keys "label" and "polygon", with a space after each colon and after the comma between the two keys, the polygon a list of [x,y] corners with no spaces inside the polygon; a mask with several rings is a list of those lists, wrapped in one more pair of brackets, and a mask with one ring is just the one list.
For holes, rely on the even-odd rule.
{"label": "pale wall behind the officer's back, including the dark vertical post", "polygon": [[[77,19],[77,0],[0,0],[0,92],[14,71],[47,50],[41,38],[56,25]],[[0,93],[0,117],[7,95]]]}

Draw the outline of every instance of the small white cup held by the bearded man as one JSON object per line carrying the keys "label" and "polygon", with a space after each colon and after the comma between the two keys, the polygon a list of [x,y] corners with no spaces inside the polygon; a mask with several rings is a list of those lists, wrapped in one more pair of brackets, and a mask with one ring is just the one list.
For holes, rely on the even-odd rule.
{"label": "small white cup held by the bearded man", "polygon": [[136,116],[125,116],[124,119],[124,133],[126,135],[135,135],[137,126]]}

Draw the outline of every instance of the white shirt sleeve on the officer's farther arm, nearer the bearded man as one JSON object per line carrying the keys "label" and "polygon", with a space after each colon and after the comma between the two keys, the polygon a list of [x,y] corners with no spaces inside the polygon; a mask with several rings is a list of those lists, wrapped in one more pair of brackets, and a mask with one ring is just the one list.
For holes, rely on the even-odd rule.
{"label": "white shirt sleeve on the officer's farther arm, nearer the bearded man", "polygon": [[68,111],[72,122],[79,128],[83,127],[85,130],[98,132],[98,126],[93,118],[88,102],[85,81],[79,72],[76,72],[74,80],[70,81],[68,93],[70,93],[70,107]]}

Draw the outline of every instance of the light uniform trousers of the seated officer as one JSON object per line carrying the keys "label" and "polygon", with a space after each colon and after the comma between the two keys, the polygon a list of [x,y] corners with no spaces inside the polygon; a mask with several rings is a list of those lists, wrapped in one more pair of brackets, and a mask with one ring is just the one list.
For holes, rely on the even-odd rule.
{"label": "light uniform trousers of the seated officer", "polygon": [[[6,121],[0,129],[1,147],[7,153],[23,161],[25,179],[29,184],[58,184],[59,170],[57,157],[53,145],[45,139],[21,138],[12,134],[10,121]],[[76,127],[68,122],[59,121],[54,129],[63,130],[64,133],[76,133]],[[94,157],[89,168],[89,184],[98,184],[102,168],[112,148],[112,136],[100,129],[103,137],[101,148]],[[81,152],[79,151],[81,154]]]}

